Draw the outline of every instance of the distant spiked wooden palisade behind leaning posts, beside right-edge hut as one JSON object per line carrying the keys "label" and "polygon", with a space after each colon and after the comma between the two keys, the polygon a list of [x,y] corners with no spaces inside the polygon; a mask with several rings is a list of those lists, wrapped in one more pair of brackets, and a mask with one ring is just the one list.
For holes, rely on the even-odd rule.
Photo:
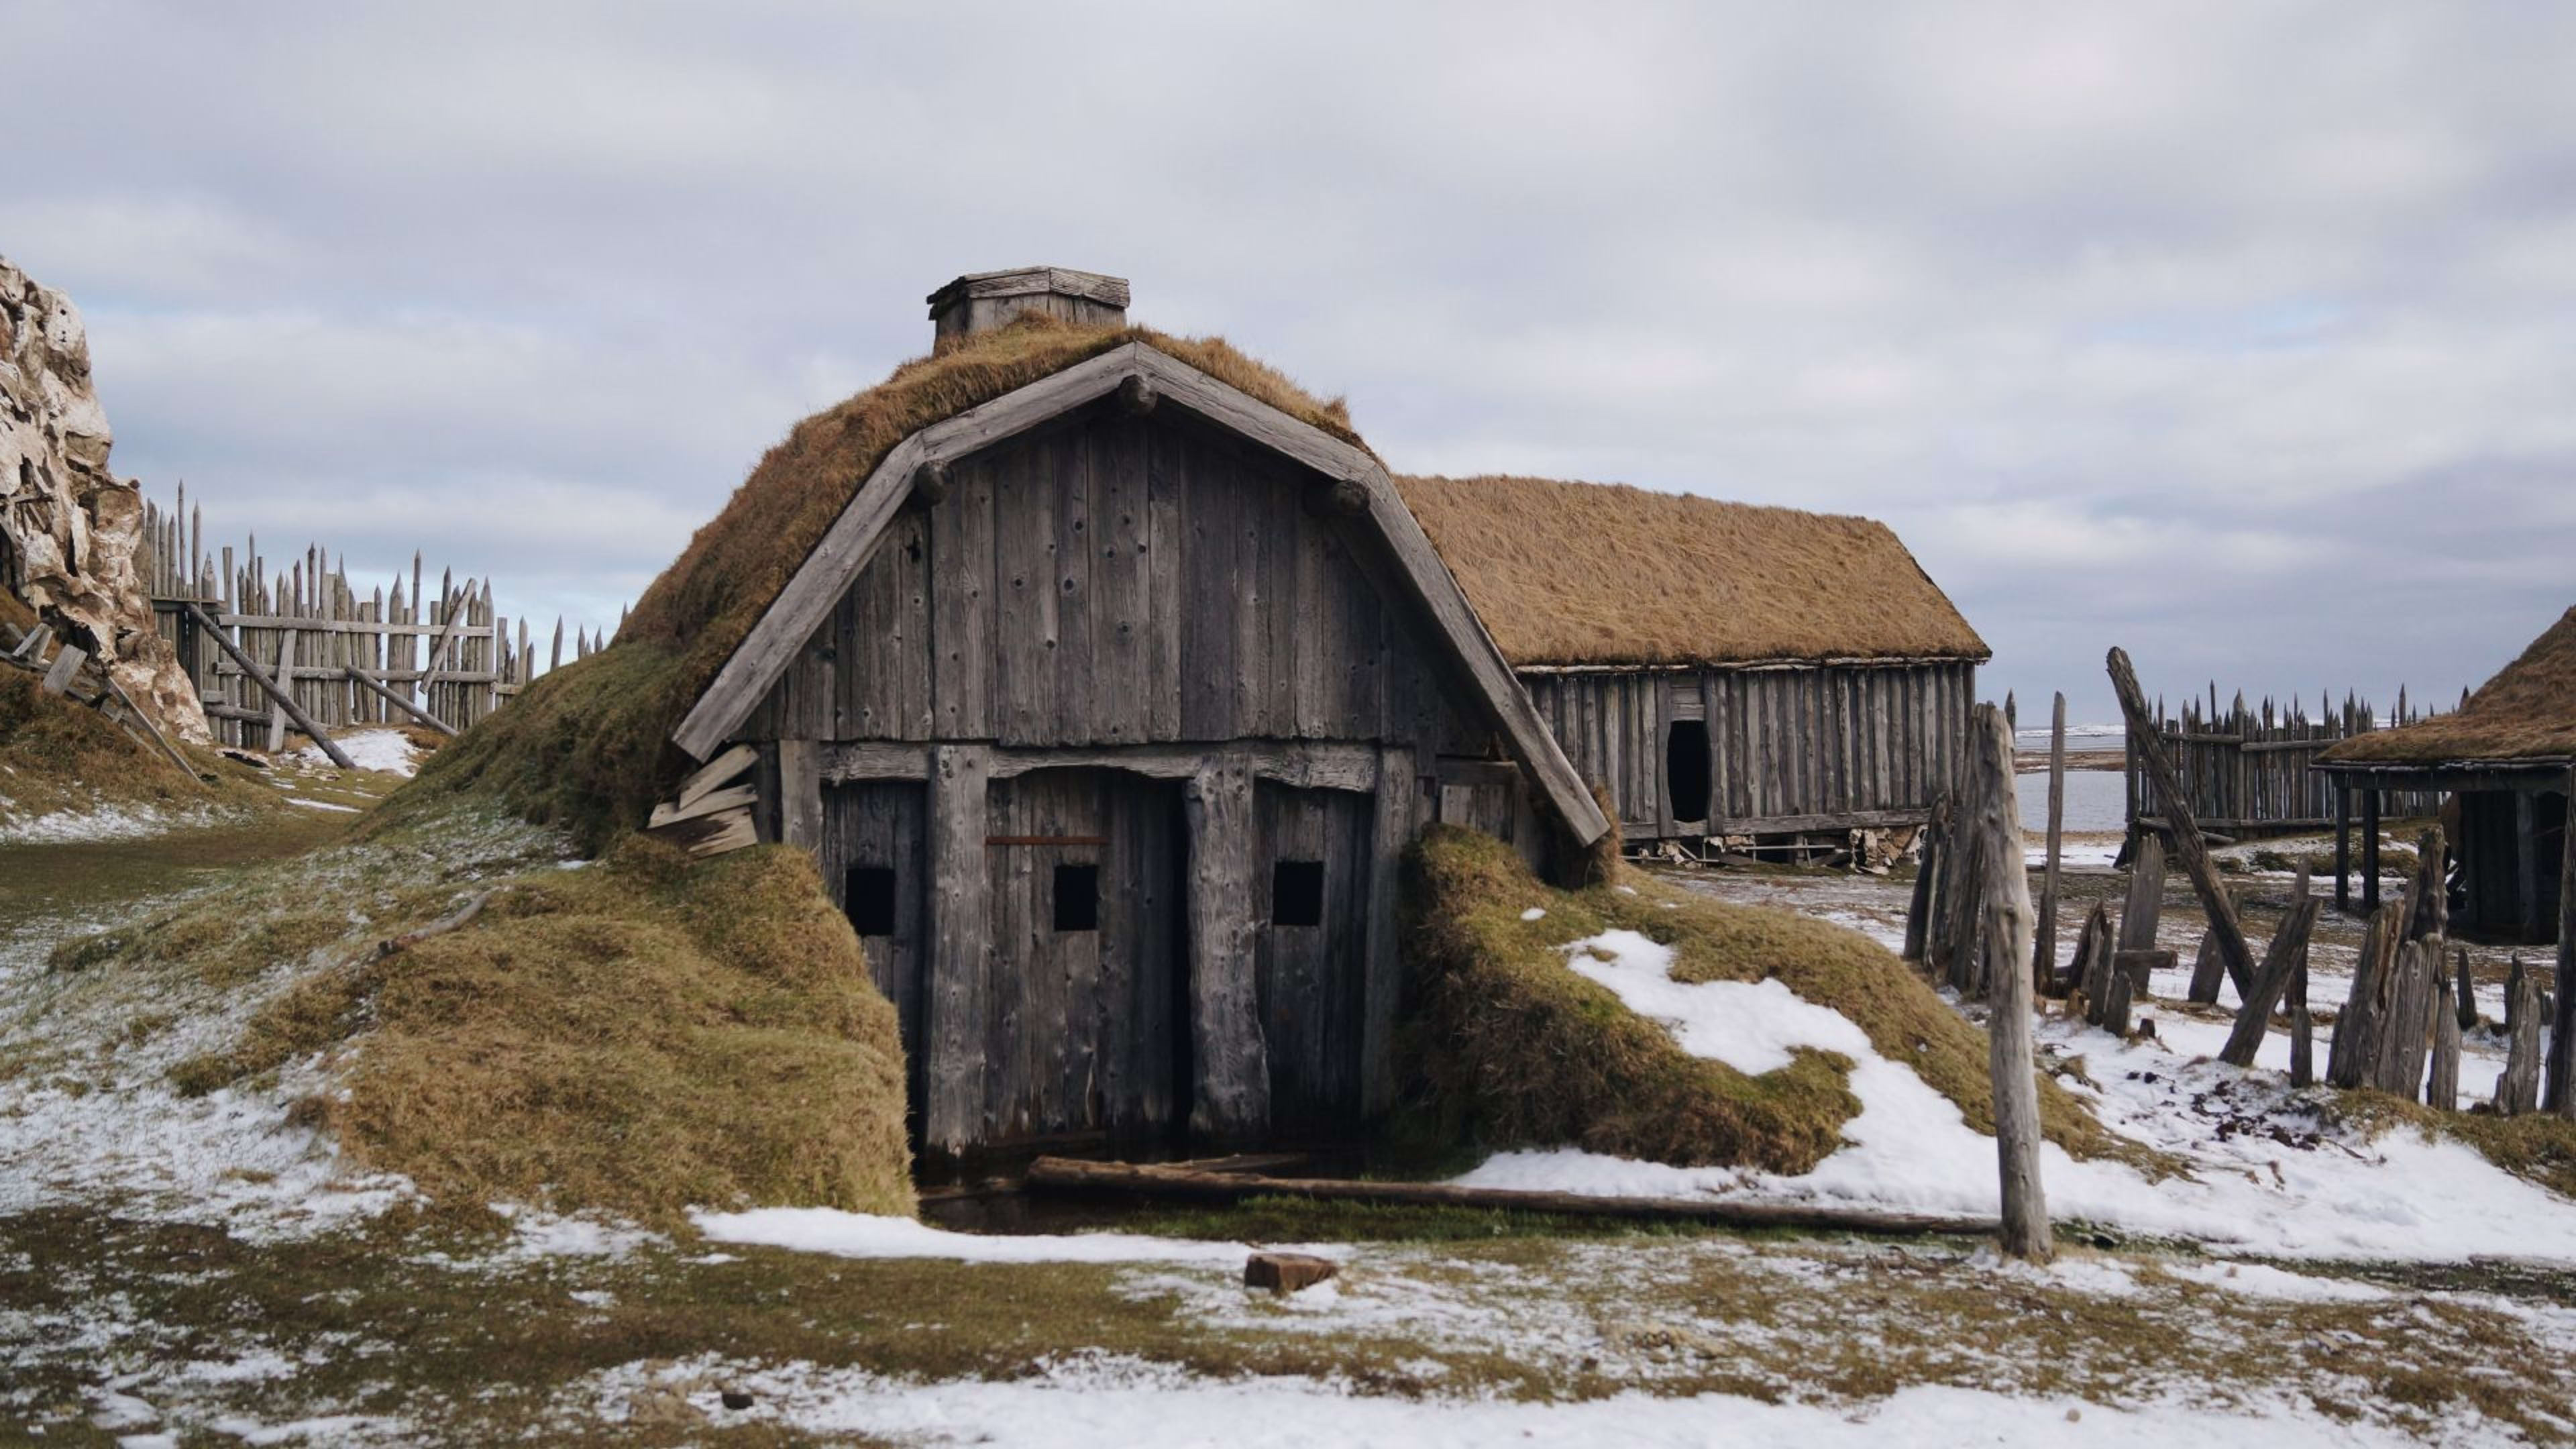
{"label": "distant spiked wooden palisade behind leaning posts, beside right-edge hut", "polygon": [[[2414,724],[2429,712],[2411,709],[2406,691],[2383,722],[2367,699],[2344,696],[2342,706],[2321,701],[2311,717],[2306,701],[2259,709],[2239,694],[2233,704],[2218,704],[2218,686],[2210,699],[2192,699],[2179,714],[2169,714],[2156,701],[2156,732],[2164,740],[2174,773],[2182,776],[2184,799],[2192,817],[2205,830],[2226,835],[2295,835],[2303,830],[2334,828],[2334,781],[2311,771],[2316,755],[2336,740],[2367,735],[2372,730]],[[2138,761],[2136,727],[2128,745],[2128,822],[2161,825],[2164,804],[2156,781]],[[2442,797],[2434,792],[2388,792],[2383,812],[2388,817],[2434,815]]]}

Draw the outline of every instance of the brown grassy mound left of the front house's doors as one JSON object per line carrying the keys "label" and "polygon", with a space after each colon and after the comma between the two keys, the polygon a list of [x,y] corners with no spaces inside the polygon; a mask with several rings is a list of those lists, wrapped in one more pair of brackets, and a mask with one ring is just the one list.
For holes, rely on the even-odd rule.
{"label": "brown grassy mound left of the front house's doors", "polygon": [[690,1204],[912,1212],[894,1008],[811,856],[690,864],[636,835],[590,869],[500,882],[461,931],[366,951],[451,905],[453,887],[407,900],[402,926],[317,951],[301,915],[227,936],[240,910],[219,895],[57,964],[142,964],[167,938],[214,962],[332,962],[173,1083],[204,1093],[340,1055],[340,1091],[299,1111],[443,1201],[662,1225]]}

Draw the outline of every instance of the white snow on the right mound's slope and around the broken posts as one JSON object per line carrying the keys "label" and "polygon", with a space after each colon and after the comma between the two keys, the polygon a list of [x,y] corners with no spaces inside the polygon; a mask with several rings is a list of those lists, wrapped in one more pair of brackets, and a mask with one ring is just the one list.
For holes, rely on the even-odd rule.
{"label": "white snow on the right mound's slope and around the broken posts", "polygon": [[[1499,1152],[1461,1181],[1613,1196],[1710,1194],[1996,1212],[1994,1140],[1973,1132],[1958,1106],[1911,1067],[1880,1057],[1844,1016],[1798,1000],[1780,982],[1674,982],[1672,951],[1633,931],[1577,941],[1569,962],[1633,1011],[1667,1021],[1682,1049],[1736,1070],[1775,1070],[1790,1060],[1790,1047],[1852,1057],[1852,1093],[1862,1109],[1844,1127],[1847,1147],[1795,1178],[1561,1147]],[[2318,977],[2318,987],[2326,985],[2329,977]],[[2043,1018],[2043,1057],[2081,1062],[2061,1080],[2092,1104],[2105,1127],[2190,1163],[2190,1178],[2148,1181],[2125,1163],[2079,1163],[2043,1145],[2050,1214],[2190,1238],[2228,1256],[2514,1256],[2576,1266],[2576,1204],[2504,1173],[2460,1142],[2427,1142],[2411,1132],[2378,1140],[2331,1132],[2321,1122],[2321,1098],[2287,1088],[2287,1036],[2275,1036],[2254,1070],[2208,1060],[2226,1039],[2223,1024],[2159,1016],[2159,1036],[2123,1042],[2081,1021]],[[2324,1052],[2326,1042],[2318,1042],[2318,1060]],[[2476,1070],[2463,1062],[2463,1088],[2494,1091],[2501,1065],[2491,1049],[2476,1062]]]}

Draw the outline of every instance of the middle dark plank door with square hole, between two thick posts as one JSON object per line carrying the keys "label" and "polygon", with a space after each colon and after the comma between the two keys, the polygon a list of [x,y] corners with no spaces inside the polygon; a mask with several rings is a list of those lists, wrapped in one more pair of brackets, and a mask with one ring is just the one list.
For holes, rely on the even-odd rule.
{"label": "middle dark plank door with square hole, between two thick posts", "polygon": [[997,779],[987,1145],[1162,1147],[1188,1124],[1180,786]]}

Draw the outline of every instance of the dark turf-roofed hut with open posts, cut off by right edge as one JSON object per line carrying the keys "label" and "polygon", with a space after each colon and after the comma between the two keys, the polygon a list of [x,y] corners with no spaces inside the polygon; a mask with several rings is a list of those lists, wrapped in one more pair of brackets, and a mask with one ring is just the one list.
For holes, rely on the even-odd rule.
{"label": "dark turf-roofed hut with open posts, cut off by right edge", "polygon": [[2334,779],[2336,861],[2352,859],[2352,797],[2362,797],[2365,902],[2378,902],[2380,794],[2450,792],[2460,804],[2450,843],[2460,864],[2452,923],[2483,936],[2553,941],[2563,918],[2568,773],[2576,771],[2576,608],[2455,714],[2354,735],[2311,768]]}

